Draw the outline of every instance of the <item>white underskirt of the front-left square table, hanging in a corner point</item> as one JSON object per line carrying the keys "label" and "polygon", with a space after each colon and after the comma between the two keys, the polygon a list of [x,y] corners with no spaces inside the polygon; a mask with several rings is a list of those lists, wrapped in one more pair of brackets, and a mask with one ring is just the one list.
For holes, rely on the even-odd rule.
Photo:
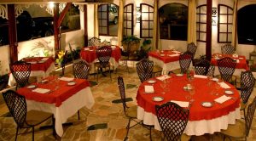
{"label": "white underskirt of the front-left square table, hanging in a corner point", "polygon": [[55,107],[55,104],[26,99],[27,110],[40,110],[54,114],[55,131],[60,137],[63,135],[62,123],[65,123],[67,118],[76,114],[84,106],[91,109],[94,103],[90,87],[85,87],[78,93],[73,94],[73,96],[63,101],[59,107]]}

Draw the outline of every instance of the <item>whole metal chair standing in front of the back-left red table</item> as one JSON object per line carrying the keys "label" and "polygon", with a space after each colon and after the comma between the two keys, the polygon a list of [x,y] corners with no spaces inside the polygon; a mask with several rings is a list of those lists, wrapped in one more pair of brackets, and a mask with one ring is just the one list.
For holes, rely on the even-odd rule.
{"label": "whole metal chair standing in front of the back-left red table", "polygon": [[96,71],[97,71],[97,81],[98,81],[98,76],[99,76],[99,71],[102,71],[103,68],[108,67],[108,71],[109,71],[109,76],[110,76],[110,80],[112,81],[112,77],[111,77],[111,70],[110,70],[110,58],[111,58],[111,54],[112,54],[112,48],[109,46],[103,46],[101,48],[97,48],[96,49],[96,55],[97,58],[99,59],[99,62],[97,62],[95,64],[96,66]]}

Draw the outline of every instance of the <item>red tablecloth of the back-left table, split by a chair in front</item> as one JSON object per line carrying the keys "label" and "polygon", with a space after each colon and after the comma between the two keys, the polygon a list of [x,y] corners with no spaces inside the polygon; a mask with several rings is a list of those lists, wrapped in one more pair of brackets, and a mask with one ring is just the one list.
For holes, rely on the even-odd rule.
{"label": "red tablecloth of the back-left table, split by a chair in front", "polygon": [[[93,63],[95,59],[97,59],[96,55],[96,48],[97,47],[86,47],[89,48],[88,50],[84,50],[84,48],[80,52],[80,56],[82,59],[86,60],[88,63]],[[121,58],[121,49],[119,46],[115,46],[115,48],[112,49],[111,57],[114,58],[116,62],[119,62],[119,59]]]}

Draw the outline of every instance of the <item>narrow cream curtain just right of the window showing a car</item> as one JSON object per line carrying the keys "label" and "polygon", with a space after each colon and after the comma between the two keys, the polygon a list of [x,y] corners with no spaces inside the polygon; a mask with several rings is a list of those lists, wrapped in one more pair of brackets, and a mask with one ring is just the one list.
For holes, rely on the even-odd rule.
{"label": "narrow cream curtain just right of the window showing a car", "polygon": [[123,27],[124,27],[124,2],[119,0],[119,30],[118,30],[118,45],[122,45],[123,40]]}

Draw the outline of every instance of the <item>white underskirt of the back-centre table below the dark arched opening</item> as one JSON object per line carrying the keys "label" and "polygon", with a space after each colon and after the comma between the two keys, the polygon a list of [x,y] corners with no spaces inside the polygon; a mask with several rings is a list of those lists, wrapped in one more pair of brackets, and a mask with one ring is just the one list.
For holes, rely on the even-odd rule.
{"label": "white underskirt of the back-centre table below the dark arched opening", "polygon": [[162,60],[156,59],[151,56],[148,56],[148,58],[154,62],[154,65],[159,65],[161,68],[163,68],[162,74],[167,74],[169,71],[173,71],[180,68],[178,60],[169,63],[164,63]]}

